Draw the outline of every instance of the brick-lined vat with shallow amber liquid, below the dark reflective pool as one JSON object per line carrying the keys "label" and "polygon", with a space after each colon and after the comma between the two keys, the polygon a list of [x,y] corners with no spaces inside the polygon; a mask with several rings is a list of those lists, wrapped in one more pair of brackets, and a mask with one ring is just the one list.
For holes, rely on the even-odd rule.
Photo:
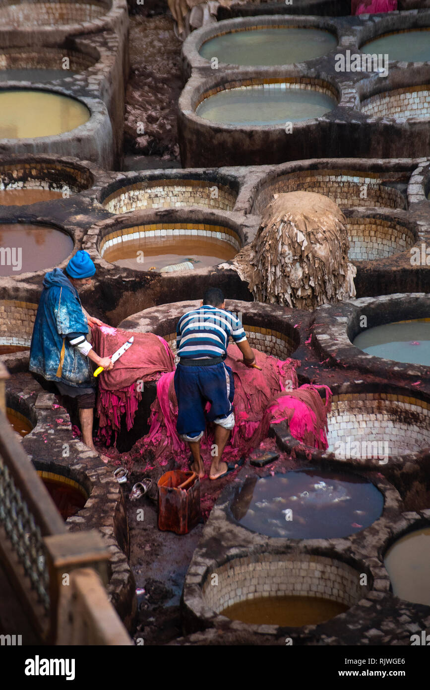
{"label": "brick-lined vat with shallow amber liquid, below the dark reflective pool", "polygon": [[[212,585],[214,575],[218,586]],[[203,602],[218,615],[254,626],[302,627],[345,613],[368,587],[360,586],[358,569],[336,558],[264,553],[212,569],[202,591]]]}

